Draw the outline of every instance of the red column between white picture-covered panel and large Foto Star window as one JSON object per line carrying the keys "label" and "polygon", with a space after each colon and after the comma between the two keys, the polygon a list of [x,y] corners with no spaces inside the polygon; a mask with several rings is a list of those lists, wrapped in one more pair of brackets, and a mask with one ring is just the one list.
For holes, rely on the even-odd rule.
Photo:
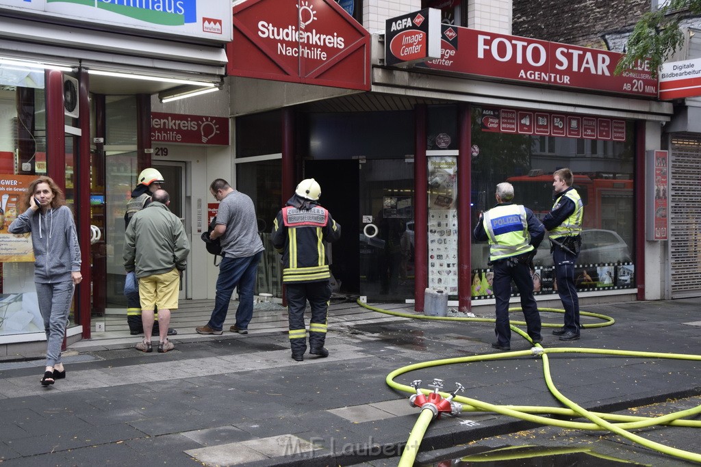
{"label": "red column between white picture-covered panel and large Foto Star window", "polygon": [[470,104],[458,106],[458,311],[470,311],[472,294],[470,251],[472,249],[471,200],[472,146]]}

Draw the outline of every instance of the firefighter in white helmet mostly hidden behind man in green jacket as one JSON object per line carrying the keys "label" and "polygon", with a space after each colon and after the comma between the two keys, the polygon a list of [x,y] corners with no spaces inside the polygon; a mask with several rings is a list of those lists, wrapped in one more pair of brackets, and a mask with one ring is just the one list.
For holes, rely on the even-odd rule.
{"label": "firefighter in white helmet mostly hidden behind man in green jacket", "polygon": [[[132,191],[131,197],[127,202],[127,209],[124,213],[124,228],[129,225],[129,221],[138,211],[147,207],[151,203],[151,194],[156,190],[163,188],[163,175],[158,170],[149,167],[143,169],[137,179],[137,186]],[[137,288],[138,291],[138,288]],[[154,334],[158,335],[158,312],[154,314]],[[129,325],[129,333],[137,335],[144,333],[144,326],[141,321],[141,303],[138,295],[127,296],[127,323]],[[168,328],[168,335],[175,335],[177,331]]]}

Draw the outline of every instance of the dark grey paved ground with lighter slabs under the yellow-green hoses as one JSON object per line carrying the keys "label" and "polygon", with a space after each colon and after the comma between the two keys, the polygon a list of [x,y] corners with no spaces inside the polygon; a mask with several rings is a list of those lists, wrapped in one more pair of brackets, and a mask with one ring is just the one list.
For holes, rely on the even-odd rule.
{"label": "dark grey paved ground with lighter slabs under the yellow-green hoses", "polygon": [[[543,347],[562,349],[548,354],[555,386],[598,412],[653,404],[634,411],[660,414],[697,406],[699,361],[571,352],[621,349],[697,356],[697,303],[588,306],[587,311],[611,316],[615,324],[585,328],[574,342],[559,341],[545,329]],[[411,313],[407,305],[376,306]],[[492,317],[491,312],[485,308],[482,317]],[[284,318],[284,312],[278,313]],[[562,314],[542,316],[552,326],[562,323]],[[512,314],[512,320],[521,318]],[[262,314],[259,319],[271,321]],[[0,362],[0,460],[8,466],[151,461],[178,466],[394,466],[418,409],[410,407],[408,394],[390,389],[386,375],[423,361],[503,354],[490,346],[491,323],[410,320],[337,303],[329,312],[330,356],[307,354],[297,363],[290,358],[284,319],[278,328],[258,331],[256,320],[254,316],[248,335],[176,336],[180,340],[173,340],[176,348],[167,354],[142,354],[130,348],[133,338],[108,346],[81,342],[69,348],[67,378],[49,388],[39,384],[43,361]],[[531,346],[514,334],[511,348],[528,351]],[[422,379],[426,387],[435,378],[444,380],[445,391],[452,391],[456,382],[463,384],[461,395],[474,400],[562,407],[547,389],[542,358],[532,355],[424,368],[395,381]],[[701,452],[698,428],[665,426],[637,433]],[[561,456],[583,454],[592,444],[597,454],[612,459],[688,465],[617,435],[543,426],[494,412],[463,412],[433,421],[416,461],[470,465],[455,462],[494,449],[535,445],[571,448],[554,454],[565,463],[552,463],[568,465]]]}

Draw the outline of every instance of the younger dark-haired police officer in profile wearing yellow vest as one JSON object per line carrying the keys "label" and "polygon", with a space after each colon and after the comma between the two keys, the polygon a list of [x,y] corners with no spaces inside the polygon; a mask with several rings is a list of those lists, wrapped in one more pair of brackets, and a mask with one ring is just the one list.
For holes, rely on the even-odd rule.
{"label": "younger dark-haired police officer in profile wearing yellow vest", "polygon": [[560,340],[578,340],[580,333],[579,298],[574,282],[574,267],[582,246],[584,206],[577,190],[572,188],[574,176],[570,169],[552,174],[555,203],[545,214],[543,225],[550,231],[550,251],[555,265],[557,293],[565,309],[564,326],[552,331]]}

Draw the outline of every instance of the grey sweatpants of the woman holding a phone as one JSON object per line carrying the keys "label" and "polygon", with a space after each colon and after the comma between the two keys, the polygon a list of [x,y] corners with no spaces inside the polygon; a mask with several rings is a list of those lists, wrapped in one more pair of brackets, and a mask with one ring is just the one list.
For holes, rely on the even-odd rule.
{"label": "grey sweatpants of the woman holding a phone", "polygon": [[39,300],[39,312],[44,320],[46,331],[46,366],[61,363],[61,346],[66,333],[68,314],[73,300],[75,286],[73,281],[56,284],[36,285],[36,297]]}

